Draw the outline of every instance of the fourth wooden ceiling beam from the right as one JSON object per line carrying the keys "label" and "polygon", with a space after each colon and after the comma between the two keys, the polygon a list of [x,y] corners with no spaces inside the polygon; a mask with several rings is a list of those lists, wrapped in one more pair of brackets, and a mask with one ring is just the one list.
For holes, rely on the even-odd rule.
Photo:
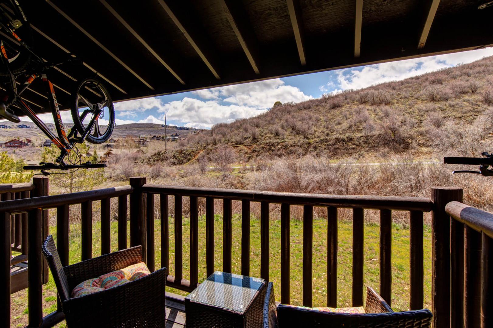
{"label": "fourth wooden ceiling beam from the right", "polygon": [[245,9],[242,8],[241,1],[238,0],[219,0],[229,24],[240,42],[245,52],[246,58],[250,63],[255,74],[260,74],[258,41],[253,33],[253,28],[246,18]]}

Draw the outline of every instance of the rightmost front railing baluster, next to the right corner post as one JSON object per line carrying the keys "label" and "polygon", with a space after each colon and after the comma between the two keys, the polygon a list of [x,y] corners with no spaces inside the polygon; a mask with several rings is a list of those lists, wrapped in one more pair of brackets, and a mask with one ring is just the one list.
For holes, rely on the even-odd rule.
{"label": "rightmost front railing baluster, next to the right corner post", "polygon": [[423,308],[423,212],[409,212],[410,309]]}

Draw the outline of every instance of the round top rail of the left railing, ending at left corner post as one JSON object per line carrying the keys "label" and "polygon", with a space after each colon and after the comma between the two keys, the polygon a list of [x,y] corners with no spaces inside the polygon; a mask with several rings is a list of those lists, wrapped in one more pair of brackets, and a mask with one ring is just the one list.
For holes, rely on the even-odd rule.
{"label": "round top rail of the left railing, ending at left corner post", "polygon": [[32,210],[35,208],[54,208],[61,205],[80,204],[87,200],[101,200],[107,197],[118,197],[129,195],[134,188],[132,186],[121,186],[105,189],[96,189],[85,192],[34,197],[19,200],[5,200],[1,202],[0,211],[8,213],[19,213]]}

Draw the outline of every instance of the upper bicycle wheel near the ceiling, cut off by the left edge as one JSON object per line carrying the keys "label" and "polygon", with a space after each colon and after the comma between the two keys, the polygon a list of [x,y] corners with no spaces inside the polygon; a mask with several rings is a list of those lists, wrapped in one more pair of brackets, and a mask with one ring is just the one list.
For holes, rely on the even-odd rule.
{"label": "upper bicycle wheel near the ceiling, cut off by the left edge", "polygon": [[[8,60],[10,71],[17,74],[24,71],[31,60],[32,47],[30,45],[33,43],[33,33],[20,4],[14,4],[12,1],[0,1],[0,6],[4,13],[22,23],[21,27],[14,28],[11,21],[3,13],[0,15],[1,23],[9,29],[9,31],[3,31],[6,36],[0,34],[1,45],[3,46],[1,55],[4,56],[4,60]],[[0,76],[8,75],[7,68],[4,65],[0,65]]]}

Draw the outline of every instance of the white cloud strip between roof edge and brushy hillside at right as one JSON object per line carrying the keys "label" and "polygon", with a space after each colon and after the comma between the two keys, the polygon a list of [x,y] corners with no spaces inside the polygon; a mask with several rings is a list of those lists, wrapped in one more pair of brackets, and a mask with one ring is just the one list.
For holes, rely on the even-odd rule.
{"label": "white cloud strip between roof edge and brushy hillside at right", "polygon": [[[470,63],[486,56],[493,55],[493,48],[465,51],[447,55],[408,59],[398,62],[382,63],[364,66],[363,68],[346,68],[335,71],[336,82],[342,90],[361,89],[370,85],[403,80],[437,69],[456,66],[460,63]],[[320,86],[320,90],[328,91],[334,86],[334,81]],[[331,88],[332,87],[332,88]]]}

